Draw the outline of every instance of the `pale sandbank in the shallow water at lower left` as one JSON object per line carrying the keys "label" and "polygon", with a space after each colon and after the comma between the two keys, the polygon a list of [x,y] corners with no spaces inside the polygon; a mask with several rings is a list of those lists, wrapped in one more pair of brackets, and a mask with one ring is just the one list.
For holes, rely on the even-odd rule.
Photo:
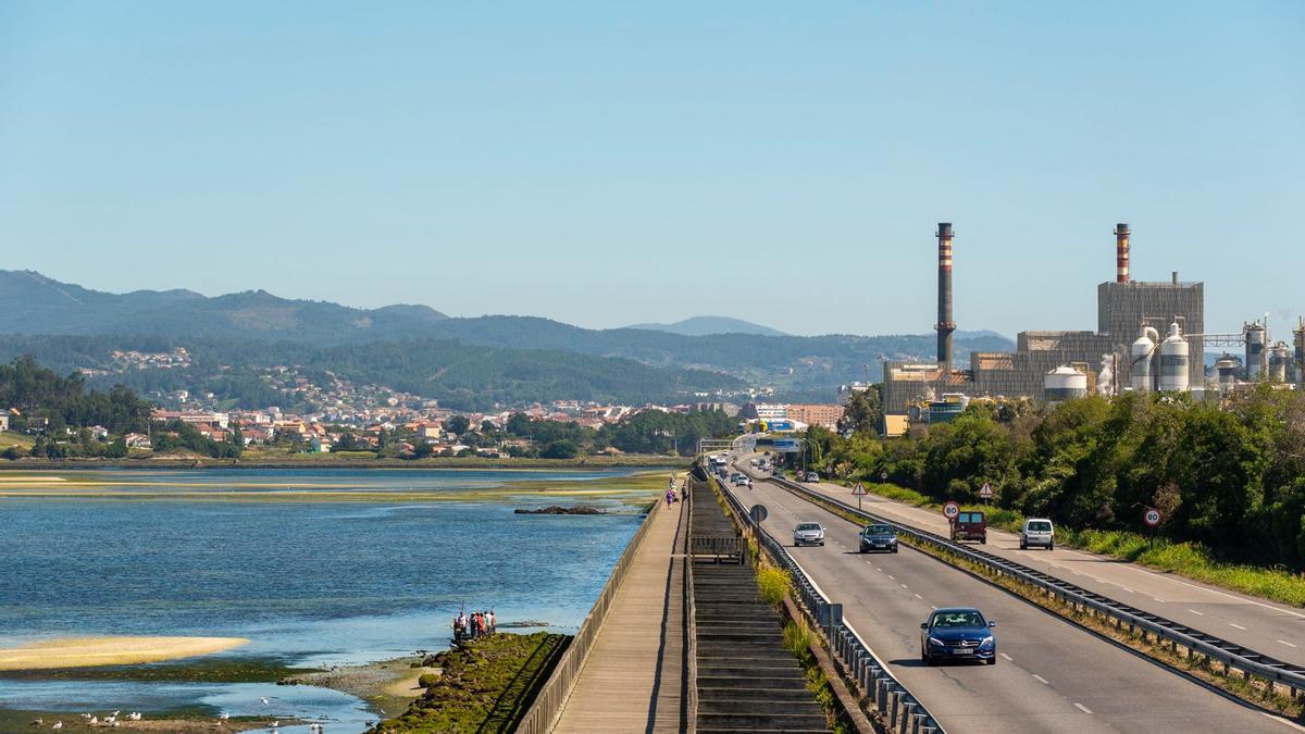
{"label": "pale sandbank in the shallow water at lower left", "polygon": [[243,637],[64,637],[0,648],[0,670],[136,665],[210,654],[248,643]]}

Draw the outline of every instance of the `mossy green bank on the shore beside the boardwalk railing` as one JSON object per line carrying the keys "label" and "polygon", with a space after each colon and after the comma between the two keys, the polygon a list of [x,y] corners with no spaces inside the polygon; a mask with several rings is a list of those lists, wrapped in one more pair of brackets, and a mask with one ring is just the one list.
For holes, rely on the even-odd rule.
{"label": "mossy green bank on the shore beside the boardwalk railing", "polygon": [[497,633],[442,652],[423,675],[425,692],[406,712],[380,722],[377,734],[506,733],[515,729],[531,700],[566,649],[570,637],[536,632]]}

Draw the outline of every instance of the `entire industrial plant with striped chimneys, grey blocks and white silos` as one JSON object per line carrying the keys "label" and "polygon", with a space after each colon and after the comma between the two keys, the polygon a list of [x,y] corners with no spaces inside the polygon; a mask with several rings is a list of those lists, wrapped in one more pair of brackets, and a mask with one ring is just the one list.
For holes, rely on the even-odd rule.
{"label": "entire industrial plant with striped chimneys, grey blocks and white silos", "polygon": [[[950,222],[938,223],[937,362],[886,362],[883,409],[900,417],[951,417],[971,398],[1057,402],[1088,393],[1182,391],[1201,397],[1227,394],[1238,384],[1305,381],[1305,323],[1297,325],[1295,357],[1285,342],[1268,341],[1267,316],[1240,333],[1205,333],[1205,283],[1134,281],[1129,272],[1130,229],[1114,227],[1114,279],[1096,286],[1095,332],[1021,332],[1014,353],[971,353],[967,370],[953,363],[953,239]],[[1224,353],[1207,380],[1206,347]],[[928,419],[928,418],[924,418]],[[893,421],[890,419],[890,423]]]}

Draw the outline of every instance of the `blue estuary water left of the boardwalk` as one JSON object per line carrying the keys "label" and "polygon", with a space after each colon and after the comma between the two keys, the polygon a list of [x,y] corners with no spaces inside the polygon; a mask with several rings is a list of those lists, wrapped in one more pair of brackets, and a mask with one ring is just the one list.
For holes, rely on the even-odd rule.
{"label": "blue estuary water left of the boardwalk", "polygon": [[[619,495],[583,494],[599,485],[620,490],[630,482],[624,471],[100,471],[57,479],[85,481],[95,496],[57,496],[57,483],[56,496],[0,496],[0,646],[94,635],[232,636],[249,644],[221,656],[326,667],[441,649],[463,607],[493,609],[500,626],[574,631],[641,520]],[[493,490],[504,486],[510,488]],[[249,498],[261,492],[277,499]],[[544,504],[611,513],[513,512]],[[338,731],[376,718],[346,694],[262,683],[0,677],[0,708],[325,717]]]}

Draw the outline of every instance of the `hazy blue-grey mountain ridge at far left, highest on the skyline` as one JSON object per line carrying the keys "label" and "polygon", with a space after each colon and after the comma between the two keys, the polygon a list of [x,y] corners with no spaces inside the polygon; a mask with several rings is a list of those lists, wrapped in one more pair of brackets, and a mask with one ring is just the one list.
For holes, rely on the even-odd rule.
{"label": "hazy blue-grey mountain ridge at far left, highest on the skyline", "polygon": [[256,337],[343,343],[412,336],[446,319],[425,306],[350,308],[288,300],[266,291],[206,298],[189,290],[124,294],[61,283],[30,270],[0,270],[0,333]]}

